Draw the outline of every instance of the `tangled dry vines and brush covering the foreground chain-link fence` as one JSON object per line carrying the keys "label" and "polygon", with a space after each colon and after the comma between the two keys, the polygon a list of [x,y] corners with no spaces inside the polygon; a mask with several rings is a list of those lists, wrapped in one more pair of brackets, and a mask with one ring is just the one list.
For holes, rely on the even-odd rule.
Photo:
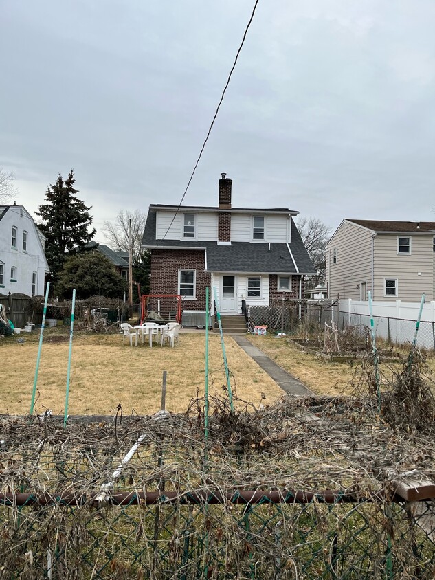
{"label": "tangled dry vines and brush covering the foreground chain-link fence", "polygon": [[0,578],[435,576],[434,534],[393,483],[416,466],[435,478],[428,423],[390,425],[370,388],[237,412],[216,398],[207,439],[203,413],[197,399],[186,414],[65,429],[2,419]]}

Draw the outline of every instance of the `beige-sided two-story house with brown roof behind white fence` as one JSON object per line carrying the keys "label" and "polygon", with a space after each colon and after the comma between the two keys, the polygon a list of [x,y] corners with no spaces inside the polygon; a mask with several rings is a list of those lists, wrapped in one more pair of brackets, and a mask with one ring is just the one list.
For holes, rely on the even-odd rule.
{"label": "beige-sided two-story house with brown roof behind white fence", "polygon": [[435,300],[435,222],[344,219],[326,246],[329,298]]}

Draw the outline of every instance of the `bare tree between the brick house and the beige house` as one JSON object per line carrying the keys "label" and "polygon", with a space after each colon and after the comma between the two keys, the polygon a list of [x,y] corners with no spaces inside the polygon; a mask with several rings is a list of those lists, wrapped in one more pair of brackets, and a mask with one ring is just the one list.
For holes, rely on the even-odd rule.
{"label": "bare tree between the brick house and the beige house", "polygon": [[325,281],[325,247],[329,240],[331,227],[323,223],[321,219],[315,217],[298,218],[296,225],[311,258],[311,262],[317,270],[317,274],[311,276],[308,280],[308,286],[314,288],[317,284]]}

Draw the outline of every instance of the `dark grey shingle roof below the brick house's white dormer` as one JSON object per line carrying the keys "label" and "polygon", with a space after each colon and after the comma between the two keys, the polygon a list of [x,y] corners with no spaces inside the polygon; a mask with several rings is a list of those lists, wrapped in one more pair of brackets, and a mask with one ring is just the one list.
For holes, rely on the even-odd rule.
{"label": "dark grey shingle roof below the brick house's white dormer", "polygon": [[[156,212],[150,208],[142,238],[143,246],[150,249],[156,245],[161,249],[165,247],[205,249],[208,271],[297,273],[286,243],[271,243],[269,251],[269,243],[232,242],[231,245],[218,245],[216,242],[205,241],[156,240],[155,225]],[[301,274],[315,274],[313,264],[293,221],[290,249],[298,271]]]}

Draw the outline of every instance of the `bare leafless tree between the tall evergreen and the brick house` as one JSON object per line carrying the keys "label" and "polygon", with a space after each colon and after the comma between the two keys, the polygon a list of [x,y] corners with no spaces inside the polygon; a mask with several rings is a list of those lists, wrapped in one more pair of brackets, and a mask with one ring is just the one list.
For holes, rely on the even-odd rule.
{"label": "bare leafless tree between the tall evergreen and the brick house", "polygon": [[107,241],[113,246],[113,249],[120,251],[129,251],[129,220],[131,219],[131,237],[133,239],[133,264],[138,264],[144,257],[144,250],[141,248],[142,236],[144,235],[146,214],[135,210],[129,212],[120,210],[115,221],[105,221],[102,231]]}

